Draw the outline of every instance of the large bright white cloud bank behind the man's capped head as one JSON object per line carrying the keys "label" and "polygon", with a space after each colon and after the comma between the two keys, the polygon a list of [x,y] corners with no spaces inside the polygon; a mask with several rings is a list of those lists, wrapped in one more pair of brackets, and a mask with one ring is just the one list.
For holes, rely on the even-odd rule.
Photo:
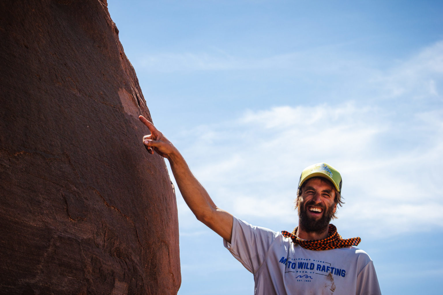
{"label": "large bright white cloud bank behind the man's capped head", "polygon": [[403,130],[385,122],[379,110],[346,103],[247,111],[235,128],[226,130],[232,125],[226,123],[199,134],[185,153],[198,155],[190,166],[218,206],[245,219],[287,223],[294,221],[291,201],[300,171],[326,161],[343,175],[347,204],[341,218],[353,226],[370,224],[368,232],[374,234],[386,224],[400,233],[424,224],[443,226],[440,188],[431,181],[443,163],[443,138],[432,136],[443,120],[432,114],[417,114],[427,119],[420,123],[430,134],[425,149],[411,144],[396,152],[382,139]]}

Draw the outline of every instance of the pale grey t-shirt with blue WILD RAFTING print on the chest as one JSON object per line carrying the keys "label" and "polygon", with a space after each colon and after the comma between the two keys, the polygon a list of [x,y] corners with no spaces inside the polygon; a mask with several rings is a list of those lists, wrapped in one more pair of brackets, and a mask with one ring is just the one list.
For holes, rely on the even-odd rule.
{"label": "pale grey t-shirt with blue WILD RAFTING print on the chest", "polygon": [[379,295],[371,258],[355,247],[314,251],[233,218],[231,254],[254,274],[255,295]]}

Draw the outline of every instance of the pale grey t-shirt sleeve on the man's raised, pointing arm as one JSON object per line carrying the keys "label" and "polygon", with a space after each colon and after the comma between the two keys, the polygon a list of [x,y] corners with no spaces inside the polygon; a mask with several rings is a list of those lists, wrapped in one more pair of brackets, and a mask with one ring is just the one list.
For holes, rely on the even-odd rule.
{"label": "pale grey t-shirt sleeve on the man's raised, pointing arm", "polygon": [[228,243],[223,240],[225,248],[233,257],[252,273],[260,268],[272,242],[279,234],[260,226],[252,226],[248,222],[233,218],[232,238]]}

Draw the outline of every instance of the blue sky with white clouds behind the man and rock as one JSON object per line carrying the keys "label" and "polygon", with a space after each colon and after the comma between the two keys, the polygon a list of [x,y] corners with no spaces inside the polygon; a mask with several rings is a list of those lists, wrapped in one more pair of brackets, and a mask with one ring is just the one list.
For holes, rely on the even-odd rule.
{"label": "blue sky with white clouds behind the man and rock", "polygon": [[[297,225],[307,165],[343,176],[334,221],[383,294],[441,294],[443,2],[116,1],[153,121],[214,202]],[[253,276],[177,194],[179,295],[253,294]]]}

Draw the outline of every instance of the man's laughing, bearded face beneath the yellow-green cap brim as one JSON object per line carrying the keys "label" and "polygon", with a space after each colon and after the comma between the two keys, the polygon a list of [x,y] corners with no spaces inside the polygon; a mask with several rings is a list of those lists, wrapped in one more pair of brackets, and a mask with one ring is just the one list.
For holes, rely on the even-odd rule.
{"label": "man's laughing, bearded face beneath the yellow-green cap brim", "polygon": [[307,180],[299,203],[299,224],[307,232],[323,232],[337,210],[335,189],[321,178]]}

